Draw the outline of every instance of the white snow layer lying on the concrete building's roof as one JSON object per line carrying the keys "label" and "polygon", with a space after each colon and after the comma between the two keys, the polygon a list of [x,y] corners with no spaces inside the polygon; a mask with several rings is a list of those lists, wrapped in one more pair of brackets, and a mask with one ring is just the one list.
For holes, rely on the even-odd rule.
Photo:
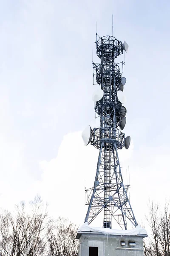
{"label": "white snow layer lying on the concrete building's roof", "polygon": [[91,231],[91,232],[100,232],[105,235],[119,235],[119,236],[137,236],[137,235],[145,235],[147,236],[147,232],[144,228],[137,225],[133,230],[115,230],[111,228],[105,227],[90,227],[87,222],[85,222],[81,227],[79,227],[78,232]]}

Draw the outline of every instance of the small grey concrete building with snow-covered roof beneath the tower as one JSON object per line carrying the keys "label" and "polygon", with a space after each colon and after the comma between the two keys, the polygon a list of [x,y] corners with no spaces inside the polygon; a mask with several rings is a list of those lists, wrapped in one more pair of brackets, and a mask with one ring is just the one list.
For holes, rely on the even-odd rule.
{"label": "small grey concrete building with snow-covered roof beneath the tower", "polygon": [[[96,231],[83,231],[83,228],[78,230],[76,238],[79,239],[79,256],[143,256],[143,238],[147,237],[146,230],[141,229],[145,232],[135,234],[137,228],[134,230],[95,229]],[[104,229],[104,233],[97,229],[101,231]],[[87,227],[84,230],[88,230]]]}

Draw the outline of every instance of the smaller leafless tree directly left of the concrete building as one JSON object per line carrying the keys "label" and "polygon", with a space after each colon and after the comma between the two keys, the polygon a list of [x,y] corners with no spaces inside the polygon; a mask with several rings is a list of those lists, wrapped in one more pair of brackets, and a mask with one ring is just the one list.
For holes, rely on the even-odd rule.
{"label": "smaller leafless tree directly left of the concrete building", "polygon": [[65,218],[48,225],[49,256],[77,256],[76,226]]}

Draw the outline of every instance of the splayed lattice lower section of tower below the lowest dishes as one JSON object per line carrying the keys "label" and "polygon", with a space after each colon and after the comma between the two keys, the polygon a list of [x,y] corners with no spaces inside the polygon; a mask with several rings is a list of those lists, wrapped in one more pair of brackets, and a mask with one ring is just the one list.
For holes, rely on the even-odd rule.
{"label": "splayed lattice lower section of tower below the lowest dishes", "polygon": [[108,145],[102,142],[94,187],[86,190],[88,211],[85,222],[90,224],[104,210],[103,227],[112,228],[112,218],[122,229],[127,229],[127,219],[136,226],[127,188],[123,183],[116,143],[108,148]]}

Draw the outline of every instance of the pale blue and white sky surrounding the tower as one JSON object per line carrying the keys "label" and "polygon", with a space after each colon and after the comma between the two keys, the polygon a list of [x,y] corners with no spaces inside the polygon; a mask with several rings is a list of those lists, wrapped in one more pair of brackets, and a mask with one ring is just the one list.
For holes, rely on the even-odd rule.
{"label": "pale blue and white sky surrounding the tower", "polygon": [[[129,150],[119,151],[130,202],[144,222],[149,200],[169,199],[170,2],[0,0],[0,207],[37,193],[49,214],[78,225],[99,151],[81,132],[94,122],[96,23],[129,45],[125,55]],[[122,56],[121,61],[124,60]]]}

